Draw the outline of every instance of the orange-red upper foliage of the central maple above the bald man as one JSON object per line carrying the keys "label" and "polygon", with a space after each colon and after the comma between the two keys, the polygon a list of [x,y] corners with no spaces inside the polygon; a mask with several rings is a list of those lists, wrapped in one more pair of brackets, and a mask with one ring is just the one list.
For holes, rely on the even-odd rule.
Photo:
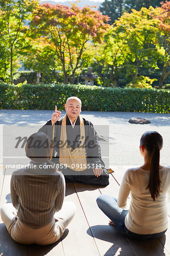
{"label": "orange-red upper foliage of the central maple above the bald man", "polygon": [[[49,27],[57,27],[60,32],[71,36],[84,35],[84,38],[92,36],[93,39],[101,42],[103,34],[109,24],[109,16],[102,15],[98,10],[92,10],[90,6],[82,9],[76,5],[72,7],[65,5],[51,5],[44,3],[39,5],[34,12],[32,23],[38,25],[41,31],[48,30]],[[48,32],[47,32],[48,33]]]}

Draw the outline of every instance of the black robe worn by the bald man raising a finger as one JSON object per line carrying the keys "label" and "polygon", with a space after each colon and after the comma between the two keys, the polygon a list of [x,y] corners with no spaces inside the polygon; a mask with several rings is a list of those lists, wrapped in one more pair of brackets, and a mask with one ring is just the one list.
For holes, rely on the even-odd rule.
{"label": "black robe worn by the bald man raising a finger", "polygon": [[[94,130],[94,127],[91,122],[83,118],[84,127],[85,127],[85,151],[86,151],[86,160],[88,168],[85,171],[73,171],[70,168],[60,168],[59,163],[60,156],[60,135],[61,135],[61,123],[62,119],[55,123],[55,138],[53,141],[53,156],[52,162],[56,164],[56,167],[59,167],[59,170],[63,172],[66,182],[80,182],[84,184],[95,184],[95,185],[108,185],[109,184],[109,174],[105,168],[105,164],[101,159],[101,148],[99,146],[99,141],[97,133]],[[71,148],[76,148],[80,143],[80,119],[77,118],[74,128],[67,117],[66,121],[66,130],[67,130],[67,143]],[[52,123],[49,120],[45,125],[39,130],[47,134],[49,139],[52,141]],[[96,177],[93,172],[93,168],[102,168],[103,174],[99,177]]]}

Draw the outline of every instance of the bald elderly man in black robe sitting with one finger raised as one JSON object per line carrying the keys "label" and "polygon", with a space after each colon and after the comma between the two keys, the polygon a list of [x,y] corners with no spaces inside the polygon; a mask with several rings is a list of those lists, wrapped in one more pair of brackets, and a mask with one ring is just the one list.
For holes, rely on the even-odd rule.
{"label": "bald elderly man in black robe sitting with one finger raised", "polygon": [[55,106],[55,112],[39,131],[51,139],[51,160],[65,176],[66,182],[108,185],[109,174],[101,159],[97,133],[91,122],[82,118],[81,100],[69,97],[65,104],[67,114]]}

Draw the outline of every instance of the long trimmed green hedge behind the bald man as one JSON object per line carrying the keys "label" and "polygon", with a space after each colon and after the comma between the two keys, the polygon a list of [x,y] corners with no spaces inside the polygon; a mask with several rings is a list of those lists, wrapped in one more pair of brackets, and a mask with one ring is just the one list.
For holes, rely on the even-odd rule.
{"label": "long trimmed green hedge behind the bald man", "polygon": [[64,110],[68,97],[82,100],[82,110],[169,113],[170,90],[105,88],[86,85],[0,84],[1,109]]}

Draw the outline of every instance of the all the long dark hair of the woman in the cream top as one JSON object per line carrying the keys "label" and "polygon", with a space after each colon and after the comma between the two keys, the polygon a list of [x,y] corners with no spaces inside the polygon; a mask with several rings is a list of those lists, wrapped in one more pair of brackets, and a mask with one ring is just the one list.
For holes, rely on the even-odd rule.
{"label": "all the long dark hair of the woman in the cream top", "polygon": [[143,145],[151,156],[150,180],[147,188],[151,193],[152,199],[159,196],[160,177],[159,177],[159,159],[160,149],[163,146],[163,138],[157,131],[147,131],[140,139],[140,145]]}

